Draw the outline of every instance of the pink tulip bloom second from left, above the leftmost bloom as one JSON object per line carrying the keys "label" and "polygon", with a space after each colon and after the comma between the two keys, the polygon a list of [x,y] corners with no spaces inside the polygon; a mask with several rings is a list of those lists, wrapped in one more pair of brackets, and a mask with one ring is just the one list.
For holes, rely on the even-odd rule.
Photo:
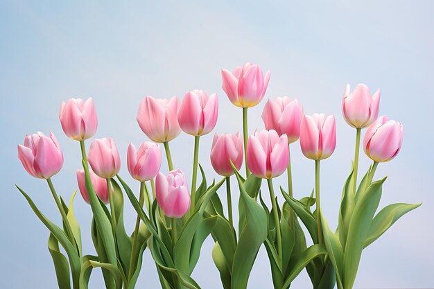
{"label": "pink tulip bloom second from left, above the leftmost bloom", "polygon": [[60,106],[59,119],[67,137],[76,141],[89,139],[95,134],[98,126],[94,100],[70,98],[67,103],[63,102]]}

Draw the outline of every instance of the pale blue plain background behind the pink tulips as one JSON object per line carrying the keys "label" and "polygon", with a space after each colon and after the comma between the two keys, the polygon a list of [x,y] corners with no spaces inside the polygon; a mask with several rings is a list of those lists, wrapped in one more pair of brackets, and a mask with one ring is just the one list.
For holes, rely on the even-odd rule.
{"label": "pale blue plain background behind the pink tulips", "polygon": [[[26,133],[51,130],[58,137],[65,158],[53,182],[69,198],[77,188],[80,150],[62,133],[58,110],[62,100],[92,96],[99,120],[95,137],[115,139],[123,159],[121,175],[137,187],[125,168],[125,155],[128,143],[146,139],[135,121],[141,98],[183,96],[197,88],[217,92],[215,131],[241,131],[241,110],[221,89],[220,69],[247,61],[272,71],[266,98],[297,97],[307,114],[336,115],[336,152],[322,162],[322,207],[333,228],[354,154],[355,133],[340,112],[342,92],[347,82],[352,87],[365,82],[372,91],[381,87],[380,114],[401,121],[405,129],[398,157],[377,170],[377,177],[389,176],[381,207],[424,204],[364,251],[355,288],[433,287],[433,16],[432,1],[1,1],[1,287],[56,287],[48,231],[14,187],[19,184],[46,216],[59,222],[48,187],[17,159],[17,143]],[[264,104],[250,110],[250,132],[263,128]],[[212,134],[201,139],[200,147],[200,162],[210,176]],[[175,166],[187,173],[192,144],[184,134],[172,143]],[[298,143],[292,146],[292,159],[295,196],[302,198],[313,188],[313,161],[302,156]],[[360,170],[369,163],[361,152]],[[275,183],[285,184],[286,178]],[[75,207],[85,252],[92,253],[90,208],[80,196]],[[125,218],[131,231],[135,214],[129,206]],[[209,239],[193,273],[205,289],[221,288],[211,247]],[[159,288],[148,251],[144,259],[137,288]],[[103,288],[95,272],[90,288]],[[271,287],[261,248],[249,288]],[[302,272],[291,288],[310,287]]]}

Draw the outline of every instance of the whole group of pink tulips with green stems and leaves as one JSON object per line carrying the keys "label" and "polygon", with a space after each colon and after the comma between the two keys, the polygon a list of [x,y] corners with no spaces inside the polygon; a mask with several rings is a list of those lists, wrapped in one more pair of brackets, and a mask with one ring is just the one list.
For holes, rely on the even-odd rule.
{"label": "whole group of pink tulips with green stems and leaves", "polygon": [[[162,288],[201,288],[191,274],[207,238],[215,244],[212,252],[205,253],[211,254],[225,289],[248,287],[262,245],[268,253],[276,289],[290,288],[304,269],[315,289],[331,289],[336,284],[339,289],[351,289],[363,249],[403,214],[420,205],[398,203],[378,210],[385,178],[374,179],[376,168],[396,157],[403,139],[401,123],[378,117],[380,91],[371,96],[363,84],[354,91],[349,85],[345,88],[342,114],[356,129],[356,146],[349,176],[343,182],[338,227],[332,230],[321,209],[320,162],[330,157],[336,146],[334,116],[304,115],[297,99],[268,100],[262,114],[266,130],[249,136],[248,109],[259,104],[266,94],[270,71],[264,76],[257,64],[247,63],[233,72],[223,69],[222,77],[229,100],[242,109],[243,136],[214,135],[210,160],[222,178],[212,181],[199,165],[198,152],[200,138],[209,134],[217,122],[217,94],[208,96],[205,91],[193,90],[181,103],[177,97],[146,96],[141,101],[137,122],[151,141],[141,143],[138,149],[130,144],[126,156],[128,172],[139,182],[137,193],[119,175],[121,157],[113,139],[94,139],[86,151],[85,141],[95,134],[98,123],[92,98],[71,98],[62,103],[62,129],[67,137],[80,143],[83,168],[77,170],[76,177],[83,200],[93,213],[89,225],[94,255],[82,249],[80,226],[73,210],[76,192],[67,202],[56,193],[52,182],[63,164],[63,152],[54,134],[27,134],[24,146],[18,145],[19,160],[30,175],[46,179],[62,217],[62,224],[56,225],[17,186],[50,231],[48,247],[60,289],[87,288],[94,268],[101,268],[108,289],[132,289],[136,285],[146,288],[137,284],[146,249],[153,257],[158,273],[155,278],[159,278]],[[359,181],[363,128],[367,128],[363,149],[373,163]],[[177,169],[171,158],[169,143],[181,130],[194,138],[191,174]],[[304,156],[315,161],[315,190],[300,200],[293,195],[290,164],[291,143],[298,139]],[[166,153],[168,172],[160,171],[159,143]],[[243,161],[245,172],[241,171]],[[285,171],[288,186],[276,189],[272,180]],[[232,176],[240,193],[237,206],[232,206]],[[261,191],[263,179],[269,196]],[[226,196],[222,202],[218,191],[224,183]],[[283,204],[279,204],[277,194],[283,196]],[[125,197],[137,212],[132,232],[125,230]],[[264,202],[267,198],[270,208]],[[238,224],[234,215],[238,216]],[[309,247],[302,226],[313,243]],[[209,288],[209,284],[202,286]]]}

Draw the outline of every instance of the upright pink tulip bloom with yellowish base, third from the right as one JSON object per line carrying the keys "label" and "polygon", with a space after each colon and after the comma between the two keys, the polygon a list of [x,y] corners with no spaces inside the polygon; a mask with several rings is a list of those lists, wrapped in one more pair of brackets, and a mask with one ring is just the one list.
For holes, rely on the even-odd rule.
{"label": "upright pink tulip bloom with yellowish base, third from the right", "polygon": [[300,125],[300,146],[309,159],[327,159],[336,147],[334,116],[313,114],[304,116]]}

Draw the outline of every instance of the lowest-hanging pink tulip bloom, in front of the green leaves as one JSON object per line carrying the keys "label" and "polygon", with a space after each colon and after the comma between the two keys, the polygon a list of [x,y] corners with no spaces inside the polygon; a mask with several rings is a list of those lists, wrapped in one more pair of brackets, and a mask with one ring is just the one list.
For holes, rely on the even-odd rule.
{"label": "lowest-hanging pink tulip bloom, in front of the green leaves", "polygon": [[170,218],[181,218],[190,209],[190,193],[182,170],[172,170],[168,175],[158,173],[155,194],[159,207]]}

